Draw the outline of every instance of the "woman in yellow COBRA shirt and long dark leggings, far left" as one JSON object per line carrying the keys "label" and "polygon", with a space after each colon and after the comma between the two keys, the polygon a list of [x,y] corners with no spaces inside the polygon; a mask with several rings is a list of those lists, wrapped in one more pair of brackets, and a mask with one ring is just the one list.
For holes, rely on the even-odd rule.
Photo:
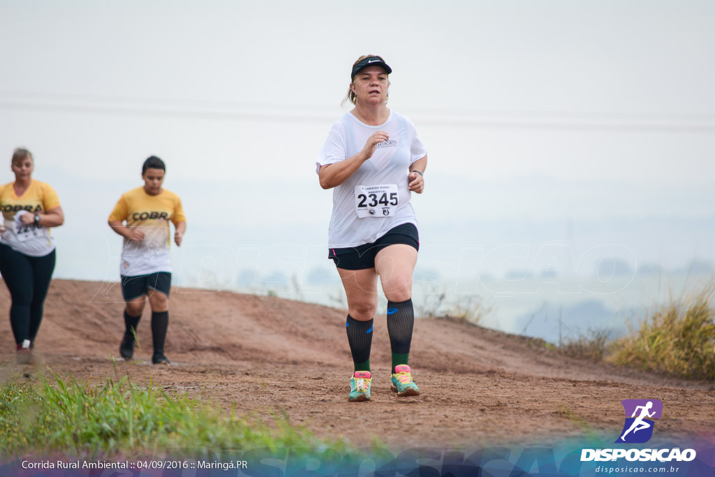
{"label": "woman in yellow COBRA shirt and long dark leggings, far left", "polygon": [[32,179],[35,169],[27,149],[15,149],[11,170],[15,181],[0,185],[0,274],[10,291],[10,324],[15,335],[17,362],[30,363],[42,323],[44,299],[55,264],[50,227],[64,223],[64,212],[54,189]]}

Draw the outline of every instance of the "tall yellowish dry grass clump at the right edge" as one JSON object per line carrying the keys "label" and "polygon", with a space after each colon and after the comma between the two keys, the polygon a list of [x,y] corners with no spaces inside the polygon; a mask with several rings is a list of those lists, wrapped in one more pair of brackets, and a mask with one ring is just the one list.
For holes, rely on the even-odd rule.
{"label": "tall yellowish dry grass clump at the right edge", "polygon": [[614,348],[608,360],[618,365],[715,379],[715,287],[670,300]]}

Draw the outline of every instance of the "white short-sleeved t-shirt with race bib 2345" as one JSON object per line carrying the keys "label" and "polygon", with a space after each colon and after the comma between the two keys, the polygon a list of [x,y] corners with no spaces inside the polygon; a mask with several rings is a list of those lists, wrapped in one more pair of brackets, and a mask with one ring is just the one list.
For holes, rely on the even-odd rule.
{"label": "white short-sleeved t-shirt with race bib 2345", "polygon": [[[388,230],[405,223],[417,226],[408,190],[410,164],[425,157],[425,147],[415,125],[390,110],[385,124],[369,126],[351,113],[332,125],[318,154],[316,172],[358,154],[375,132],[390,139],[380,142],[375,154],[332,191],[332,217],[328,247],[357,247],[375,242]],[[376,187],[381,186],[381,187]],[[360,217],[359,217],[360,215]]]}

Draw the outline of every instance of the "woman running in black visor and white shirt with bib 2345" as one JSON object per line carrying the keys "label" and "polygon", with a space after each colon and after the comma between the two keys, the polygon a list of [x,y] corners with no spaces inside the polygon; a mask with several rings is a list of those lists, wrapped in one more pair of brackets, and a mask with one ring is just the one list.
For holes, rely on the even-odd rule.
{"label": "woman running in black visor and white shirt with bib 2345", "polygon": [[360,56],[352,65],[345,101],[355,108],[333,124],[317,159],[321,187],[333,189],[328,256],[347,295],[350,401],[370,400],[378,277],[388,299],[393,391],[420,394],[408,365],[420,247],[410,194],[423,192],[427,154],[412,122],[387,107],[390,73],[380,56]]}

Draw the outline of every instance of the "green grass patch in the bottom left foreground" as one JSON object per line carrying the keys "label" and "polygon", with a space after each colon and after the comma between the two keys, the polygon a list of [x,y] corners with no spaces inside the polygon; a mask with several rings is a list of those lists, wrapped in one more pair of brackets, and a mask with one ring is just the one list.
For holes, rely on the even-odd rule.
{"label": "green grass patch in the bottom left foreground", "polygon": [[124,377],[91,386],[54,375],[48,382],[0,385],[0,456],[214,456],[231,449],[345,449],[292,426],[222,412],[187,396],[172,397]]}

